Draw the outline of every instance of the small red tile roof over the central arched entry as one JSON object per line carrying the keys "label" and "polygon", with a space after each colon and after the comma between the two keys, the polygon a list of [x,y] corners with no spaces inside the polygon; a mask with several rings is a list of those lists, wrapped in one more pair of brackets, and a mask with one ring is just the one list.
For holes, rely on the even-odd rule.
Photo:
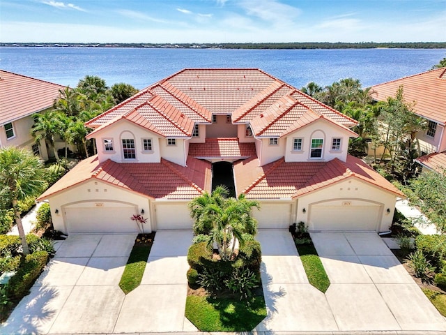
{"label": "small red tile roof over the central arched entry", "polygon": [[240,143],[237,137],[206,138],[205,143],[190,143],[189,156],[196,158],[248,158],[256,156],[255,143]]}

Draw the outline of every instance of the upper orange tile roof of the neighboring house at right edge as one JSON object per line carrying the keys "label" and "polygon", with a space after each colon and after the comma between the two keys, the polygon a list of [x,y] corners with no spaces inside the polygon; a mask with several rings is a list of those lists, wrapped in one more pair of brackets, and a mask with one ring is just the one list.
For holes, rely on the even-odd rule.
{"label": "upper orange tile roof of the neighboring house at right edge", "polygon": [[437,68],[372,87],[373,98],[385,101],[394,97],[403,85],[407,102],[415,101],[415,113],[440,124],[446,124],[446,68]]}

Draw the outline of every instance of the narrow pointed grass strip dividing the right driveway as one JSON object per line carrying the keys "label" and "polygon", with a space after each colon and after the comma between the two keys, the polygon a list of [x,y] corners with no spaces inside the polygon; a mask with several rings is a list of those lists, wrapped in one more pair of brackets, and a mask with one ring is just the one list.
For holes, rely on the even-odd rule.
{"label": "narrow pointed grass strip dividing the right driveway", "polygon": [[330,279],[328,279],[314,244],[296,244],[296,248],[298,248],[309,283],[325,293],[330,286]]}

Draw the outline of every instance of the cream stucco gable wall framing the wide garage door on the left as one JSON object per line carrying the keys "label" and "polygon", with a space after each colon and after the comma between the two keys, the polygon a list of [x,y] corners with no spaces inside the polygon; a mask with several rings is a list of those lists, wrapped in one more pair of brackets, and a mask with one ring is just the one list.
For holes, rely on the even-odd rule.
{"label": "cream stucco gable wall framing the wide garage door on the left", "polygon": [[[107,184],[103,181],[96,179],[89,179],[84,181],[84,183],[77,186],[68,188],[66,191],[61,191],[52,195],[48,198],[49,206],[51,207],[51,215],[53,220],[53,225],[55,230],[60,230],[61,232],[68,233],[64,207],[68,205],[73,205],[76,202],[125,202],[127,204],[134,204],[138,209],[139,213],[141,209],[144,209],[144,218],[148,218],[146,225],[144,225],[145,232],[151,232],[151,215],[149,213],[150,207],[148,198],[143,195],[139,195],[134,192],[126,191],[123,188]],[[58,214],[55,213],[56,209],[59,211]],[[105,225],[104,231],[107,231],[107,223]]]}

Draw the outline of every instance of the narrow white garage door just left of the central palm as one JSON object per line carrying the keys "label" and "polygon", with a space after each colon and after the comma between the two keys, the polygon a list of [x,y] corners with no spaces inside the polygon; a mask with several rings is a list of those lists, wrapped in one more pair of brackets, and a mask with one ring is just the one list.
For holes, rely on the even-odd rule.
{"label": "narrow white garage door just left of the central palm", "polygon": [[192,229],[187,204],[155,204],[156,229]]}

